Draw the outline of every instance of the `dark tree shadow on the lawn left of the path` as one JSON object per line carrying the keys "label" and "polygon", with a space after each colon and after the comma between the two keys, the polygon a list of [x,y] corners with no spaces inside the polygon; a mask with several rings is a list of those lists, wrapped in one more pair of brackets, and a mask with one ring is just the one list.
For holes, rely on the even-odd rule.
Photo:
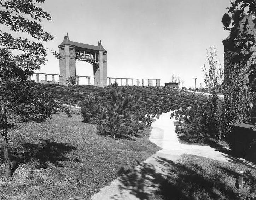
{"label": "dark tree shadow on the lawn left of the path", "polygon": [[[47,168],[46,162],[51,162],[56,167],[63,167],[60,161],[80,162],[78,159],[71,159],[66,156],[72,153],[77,156],[74,151],[76,148],[68,143],[54,142],[53,138],[41,139],[38,144],[20,142],[20,147],[10,148],[11,160],[15,161],[12,168],[12,174],[21,163],[37,161],[36,168]],[[3,161],[3,159],[1,159]],[[1,163],[4,164],[4,163]]]}

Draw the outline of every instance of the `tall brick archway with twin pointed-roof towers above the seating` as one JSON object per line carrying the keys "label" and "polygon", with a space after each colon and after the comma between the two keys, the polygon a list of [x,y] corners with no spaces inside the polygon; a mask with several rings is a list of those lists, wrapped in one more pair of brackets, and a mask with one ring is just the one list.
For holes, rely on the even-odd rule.
{"label": "tall brick archway with twin pointed-roof towers above the seating", "polygon": [[58,47],[61,56],[59,70],[63,80],[76,74],[76,62],[81,60],[93,66],[94,85],[107,86],[107,51],[101,45],[101,41],[98,41],[98,46],[72,42],[67,33]]}

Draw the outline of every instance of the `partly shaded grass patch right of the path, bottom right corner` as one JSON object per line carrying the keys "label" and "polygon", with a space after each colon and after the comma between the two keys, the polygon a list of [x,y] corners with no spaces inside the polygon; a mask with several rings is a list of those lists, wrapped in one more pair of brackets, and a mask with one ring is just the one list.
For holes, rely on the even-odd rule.
{"label": "partly shaded grass patch right of the path, bottom right corner", "polygon": [[[238,171],[256,170],[242,164],[220,162],[189,154],[172,164],[168,177],[152,200],[234,200]],[[256,193],[253,193],[256,196]]]}

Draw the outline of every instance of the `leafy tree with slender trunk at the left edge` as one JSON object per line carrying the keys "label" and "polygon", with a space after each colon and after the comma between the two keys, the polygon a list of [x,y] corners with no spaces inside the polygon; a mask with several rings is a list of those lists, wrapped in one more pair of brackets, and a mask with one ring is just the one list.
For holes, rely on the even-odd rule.
{"label": "leafy tree with slender trunk at the left edge", "polygon": [[[44,32],[38,23],[42,19],[51,20],[48,13],[35,5],[43,2],[44,0],[0,1],[0,24],[14,32],[28,33],[37,40],[53,40],[53,36]],[[17,50],[18,54],[13,55],[13,50]],[[52,53],[59,57],[56,51]],[[35,83],[27,81],[27,76],[32,75],[34,70],[40,69],[40,65],[46,62],[45,57],[46,50],[40,42],[21,37],[14,38],[10,33],[1,31],[0,123],[7,177],[11,176],[8,120],[43,121],[57,110],[57,102],[51,95],[37,91]]]}

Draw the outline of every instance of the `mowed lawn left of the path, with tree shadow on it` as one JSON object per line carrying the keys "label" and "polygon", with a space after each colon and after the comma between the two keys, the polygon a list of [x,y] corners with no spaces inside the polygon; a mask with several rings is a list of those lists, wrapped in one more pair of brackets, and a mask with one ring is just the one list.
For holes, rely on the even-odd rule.
{"label": "mowed lawn left of the path, with tree shadow on it", "polygon": [[[12,128],[10,148],[16,169],[5,179],[0,149],[0,199],[89,199],[118,173],[160,150],[151,143],[151,127],[140,138],[97,135],[80,115],[53,115],[46,123]],[[15,161],[15,163],[14,163]]]}

